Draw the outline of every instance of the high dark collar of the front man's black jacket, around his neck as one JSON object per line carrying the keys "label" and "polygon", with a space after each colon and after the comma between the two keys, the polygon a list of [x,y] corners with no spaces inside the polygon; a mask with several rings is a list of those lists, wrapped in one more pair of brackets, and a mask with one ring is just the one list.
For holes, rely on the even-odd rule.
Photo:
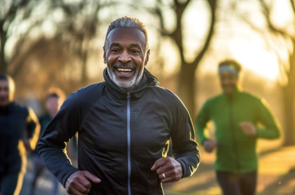
{"label": "high dark collar of the front man's black jacket, around his neck", "polygon": [[[104,69],[104,80],[106,82],[106,87],[108,88],[108,91],[114,96],[114,98],[117,98],[118,100],[127,100],[128,92],[123,91],[112,81],[112,79],[109,78],[106,68]],[[144,69],[142,81],[135,90],[129,92],[130,99],[137,100],[144,95],[148,87],[156,87],[158,85],[159,80],[154,77],[147,69]]]}

